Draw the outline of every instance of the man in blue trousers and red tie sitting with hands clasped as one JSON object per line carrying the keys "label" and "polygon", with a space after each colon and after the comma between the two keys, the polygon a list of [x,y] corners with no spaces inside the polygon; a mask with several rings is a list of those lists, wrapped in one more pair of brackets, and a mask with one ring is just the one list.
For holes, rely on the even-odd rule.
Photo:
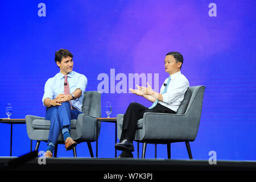
{"label": "man in blue trousers and red tie sitting with hands clasped", "polygon": [[52,157],[60,131],[63,133],[65,148],[71,150],[76,142],[69,135],[71,119],[81,114],[82,101],[87,78],[73,70],[73,55],[67,49],[55,52],[55,61],[60,72],[49,78],[44,86],[43,105],[46,119],[51,121],[46,157]]}

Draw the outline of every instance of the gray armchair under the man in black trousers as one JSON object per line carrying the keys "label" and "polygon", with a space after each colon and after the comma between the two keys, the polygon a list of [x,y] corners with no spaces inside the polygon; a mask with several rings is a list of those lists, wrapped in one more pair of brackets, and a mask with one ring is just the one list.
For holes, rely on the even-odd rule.
{"label": "gray armchair under the man in black trousers", "polygon": [[[171,143],[185,142],[189,159],[192,159],[189,142],[196,139],[201,118],[205,86],[190,86],[176,114],[144,113],[137,122],[135,141],[143,142],[142,158],[146,144],[167,144],[168,159],[171,158]],[[123,114],[117,115],[118,138],[122,133]],[[156,152],[156,148],[155,148]],[[156,156],[155,156],[156,157]]]}

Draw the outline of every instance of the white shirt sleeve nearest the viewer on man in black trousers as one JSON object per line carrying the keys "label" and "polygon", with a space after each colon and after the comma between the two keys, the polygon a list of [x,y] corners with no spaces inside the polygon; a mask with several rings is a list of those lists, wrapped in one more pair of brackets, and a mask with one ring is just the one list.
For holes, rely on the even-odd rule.
{"label": "white shirt sleeve nearest the viewer on man in black trousers", "polygon": [[189,82],[187,80],[177,81],[174,84],[174,86],[171,86],[170,88],[167,89],[166,93],[162,94],[163,102],[166,102],[167,104],[171,104],[186,92],[186,90],[188,89],[188,86],[189,86]]}

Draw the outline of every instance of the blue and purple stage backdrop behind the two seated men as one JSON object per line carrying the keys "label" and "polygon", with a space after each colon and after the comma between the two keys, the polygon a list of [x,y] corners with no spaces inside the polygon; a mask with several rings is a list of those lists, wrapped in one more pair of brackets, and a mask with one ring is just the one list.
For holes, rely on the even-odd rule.
{"label": "blue and purple stage backdrop behind the two seated men", "polygon": [[[12,118],[44,117],[44,84],[59,72],[54,57],[60,48],[73,53],[73,70],[88,78],[86,90],[102,92],[102,117],[107,101],[111,117],[125,113],[131,101],[150,106],[129,93],[132,76],[138,73],[139,84],[146,78],[159,91],[168,77],[164,57],[177,51],[190,85],[206,87],[193,158],[208,160],[216,151],[217,160],[256,160],[256,1],[43,0],[5,1],[1,7],[1,118],[7,103]],[[0,125],[0,156],[9,156],[10,125]],[[114,131],[112,123],[102,123],[100,158],[114,157]],[[29,151],[26,126],[14,125],[13,155]],[[159,144],[157,154],[167,159],[166,145]],[[172,144],[171,155],[188,159],[185,144]],[[61,145],[58,156],[73,154]],[[86,143],[77,146],[77,156],[90,157]],[[153,144],[146,158],[154,158]]]}

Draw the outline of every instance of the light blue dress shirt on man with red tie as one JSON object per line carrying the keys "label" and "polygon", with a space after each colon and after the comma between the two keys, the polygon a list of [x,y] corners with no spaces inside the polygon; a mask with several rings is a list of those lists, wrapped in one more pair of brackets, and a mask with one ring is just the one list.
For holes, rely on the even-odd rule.
{"label": "light blue dress shirt on man with red tie", "polygon": [[[64,76],[65,75],[59,72],[54,77],[49,78],[46,81],[46,85],[44,85],[44,96],[42,100],[43,105],[45,98],[55,99],[57,95],[64,93]],[[79,98],[71,100],[72,106],[82,111],[82,100],[84,100],[84,92],[87,85],[87,78],[80,73],[72,71],[68,73],[68,84],[70,93],[73,93],[76,89],[82,90],[82,94]]]}

